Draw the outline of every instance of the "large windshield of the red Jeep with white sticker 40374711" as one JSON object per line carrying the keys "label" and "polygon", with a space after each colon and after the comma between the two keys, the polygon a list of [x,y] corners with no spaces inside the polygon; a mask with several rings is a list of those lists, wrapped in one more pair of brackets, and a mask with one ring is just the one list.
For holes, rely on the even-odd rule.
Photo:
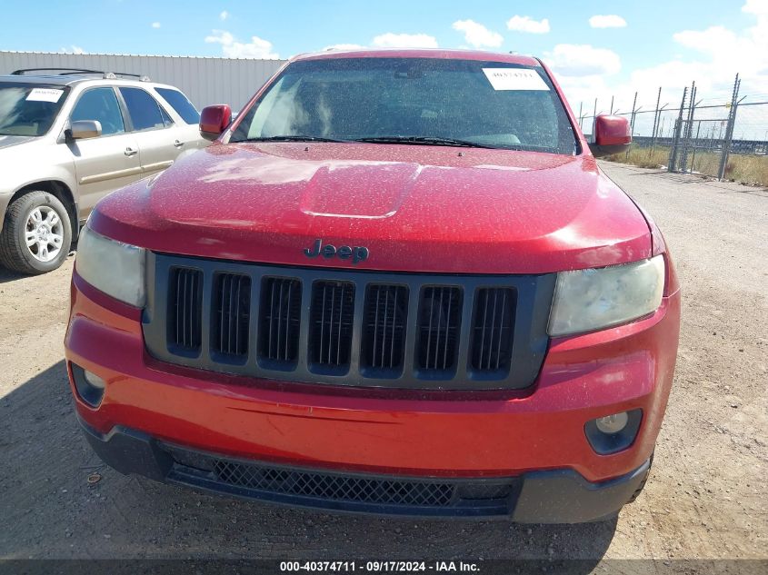
{"label": "large windshield of the red Jeep with white sticker 40374711", "polygon": [[542,68],[436,58],[290,64],[230,141],[269,139],[576,150],[573,128]]}

